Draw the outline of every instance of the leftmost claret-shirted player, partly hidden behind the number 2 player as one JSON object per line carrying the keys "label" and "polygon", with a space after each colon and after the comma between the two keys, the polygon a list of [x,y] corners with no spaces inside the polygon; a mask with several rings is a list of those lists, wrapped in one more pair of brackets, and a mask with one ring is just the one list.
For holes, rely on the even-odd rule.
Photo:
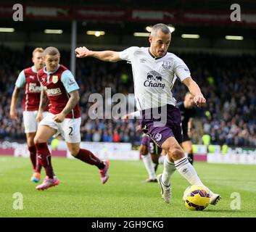
{"label": "leftmost claret-shirted player, partly hidden behind the number 2 player", "polygon": [[[34,138],[36,136],[36,130],[38,128],[38,122],[36,115],[38,112],[41,86],[37,77],[38,70],[44,67],[43,61],[44,49],[36,48],[33,51],[32,62],[33,66],[25,68],[20,72],[16,83],[15,89],[12,93],[12,102],[10,107],[10,116],[12,120],[17,120],[17,100],[20,94],[20,90],[23,88],[25,93],[22,99],[23,107],[23,123],[25,128],[25,134],[27,138],[28,151],[30,152],[30,159],[33,165],[33,175],[30,178],[31,181],[38,182],[41,178],[41,165],[37,162],[36,146],[34,144]],[[44,108],[44,117],[48,112],[48,105]]]}

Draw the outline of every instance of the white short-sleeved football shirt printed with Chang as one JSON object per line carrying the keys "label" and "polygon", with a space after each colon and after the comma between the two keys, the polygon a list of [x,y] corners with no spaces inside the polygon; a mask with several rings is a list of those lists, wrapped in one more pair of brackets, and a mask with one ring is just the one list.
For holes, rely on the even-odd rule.
{"label": "white short-sleeved football shirt printed with Chang", "polygon": [[131,63],[137,109],[176,105],[171,92],[173,84],[177,78],[183,81],[191,76],[182,59],[170,52],[155,58],[149,48],[137,46],[120,51],[119,55]]}

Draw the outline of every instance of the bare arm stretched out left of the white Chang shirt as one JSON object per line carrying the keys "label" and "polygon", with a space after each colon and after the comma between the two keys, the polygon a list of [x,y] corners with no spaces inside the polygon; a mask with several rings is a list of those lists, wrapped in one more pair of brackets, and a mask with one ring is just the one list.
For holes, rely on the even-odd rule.
{"label": "bare arm stretched out left of the white Chang shirt", "polygon": [[94,57],[106,62],[117,62],[121,60],[118,51],[91,51],[85,46],[76,48],[75,55],[78,58]]}

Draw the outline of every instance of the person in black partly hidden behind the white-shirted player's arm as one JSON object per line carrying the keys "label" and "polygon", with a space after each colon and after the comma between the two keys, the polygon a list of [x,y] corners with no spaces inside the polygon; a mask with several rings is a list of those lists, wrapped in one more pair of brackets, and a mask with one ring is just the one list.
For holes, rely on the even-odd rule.
{"label": "person in black partly hidden behind the white-shirted player's arm", "polygon": [[194,107],[194,96],[190,92],[185,95],[184,101],[177,104],[177,107],[181,110],[181,122],[183,131],[182,148],[188,154],[188,159],[191,165],[194,162],[194,154],[192,150],[192,128],[194,123],[194,115],[196,115],[197,109]]}

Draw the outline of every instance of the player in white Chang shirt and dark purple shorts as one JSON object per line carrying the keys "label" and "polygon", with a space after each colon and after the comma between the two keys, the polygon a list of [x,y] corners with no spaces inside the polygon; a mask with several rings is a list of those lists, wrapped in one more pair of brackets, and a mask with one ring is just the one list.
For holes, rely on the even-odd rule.
{"label": "player in white Chang shirt and dark purple shorts", "polygon": [[[168,26],[159,23],[152,27],[149,48],[132,46],[121,52],[91,51],[85,46],[75,49],[78,58],[94,57],[105,62],[126,60],[131,63],[137,109],[141,111],[141,128],[168,154],[163,173],[157,175],[166,203],[170,202],[170,176],[175,170],[191,185],[204,186],[181,148],[181,112],[176,107],[171,88],[178,78],[194,95],[197,107],[205,104],[206,100],[183,60],[168,52],[170,38]],[[210,204],[216,204],[220,195],[212,191],[210,194]]]}

